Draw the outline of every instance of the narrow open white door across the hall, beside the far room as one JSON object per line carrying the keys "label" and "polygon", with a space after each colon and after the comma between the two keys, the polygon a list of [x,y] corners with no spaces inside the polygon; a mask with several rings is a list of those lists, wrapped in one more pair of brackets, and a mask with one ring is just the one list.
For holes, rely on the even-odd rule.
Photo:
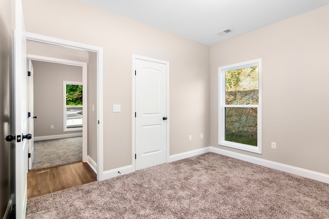
{"label": "narrow open white door across the hall, beside the far room", "polygon": [[28,59],[27,63],[27,69],[29,72],[29,76],[27,78],[27,90],[28,90],[28,101],[27,101],[27,108],[28,112],[30,112],[30,117],[28,118],[28,133],[32,135],[32,139],[28,141],[28,164],[29,164],[29,170],[32,169],[33,164],[33,154],[34,154],[34,141],[33,141],[33,128],[34,128],[34,110],[33,110],[33,66],[31,59]]}

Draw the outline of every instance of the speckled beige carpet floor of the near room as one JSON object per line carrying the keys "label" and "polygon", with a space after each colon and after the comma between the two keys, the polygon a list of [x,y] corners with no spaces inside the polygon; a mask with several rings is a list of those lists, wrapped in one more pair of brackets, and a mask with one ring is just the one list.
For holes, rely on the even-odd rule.
{"label": "speckled beige carpet floor of the near room", "polygon": [[27,218],[329,218],[329,184],[206,153],[31,198]]}

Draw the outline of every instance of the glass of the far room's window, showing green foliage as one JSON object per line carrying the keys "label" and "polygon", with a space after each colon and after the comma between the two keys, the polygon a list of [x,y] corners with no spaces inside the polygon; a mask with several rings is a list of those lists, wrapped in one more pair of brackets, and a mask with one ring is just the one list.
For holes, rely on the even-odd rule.
{"label": "glass of the far room's window, showing green foliage", "polygon": [[82,85],[66,84],[66,128],[82,128]]}

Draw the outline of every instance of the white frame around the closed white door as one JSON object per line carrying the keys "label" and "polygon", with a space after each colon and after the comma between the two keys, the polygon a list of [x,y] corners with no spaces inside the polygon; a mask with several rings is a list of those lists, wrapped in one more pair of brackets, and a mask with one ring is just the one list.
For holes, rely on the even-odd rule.
{"label": "white frame around the closed white door", "polygon": [[133,169],[136,171],[136,159],[135,159],[135,154],[136,154],[136,117],[135,117],[135,112],[136,112],[136,75],[135,75],[135,70],[136,70],[136,59],[144,60],[144,61],[149,61],[149,62],[155,62],[155,63],[160,63],[160,64],[165,64],[166,65],[166,110],[167,110],[167,129],[166,129],[166,163],[169,162],[169,155],[170,155],[170,107],[169,107],[169,62],[168,61],[163,61],[160,59],[155,59],[155,58],[150,58],[150,57],[145,57],[141,55],[135,55],[133,54],[133,69],[132,69],[132,76],[133,76],[133,83],[132,83],[132,164],[133,164]]}

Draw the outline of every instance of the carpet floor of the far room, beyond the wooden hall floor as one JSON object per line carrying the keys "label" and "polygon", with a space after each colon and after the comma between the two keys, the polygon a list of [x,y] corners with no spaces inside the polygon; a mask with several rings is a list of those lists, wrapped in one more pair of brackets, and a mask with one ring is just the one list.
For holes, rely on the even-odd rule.
{"label": "carpet floor of the far room, beyond the wooden hall floor", "polygon": [[82,161],[82,137],[34,141],[32,170]]}

